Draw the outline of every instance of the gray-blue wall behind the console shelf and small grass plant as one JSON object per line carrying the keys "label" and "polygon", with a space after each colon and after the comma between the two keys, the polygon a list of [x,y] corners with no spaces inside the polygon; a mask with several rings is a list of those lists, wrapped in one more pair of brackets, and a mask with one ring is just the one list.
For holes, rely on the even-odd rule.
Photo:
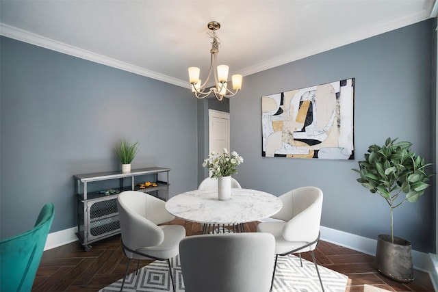
{"label": "gray-blue wall behind the console shelf and small grass plant", "polygon": [[120,138],[133,168],[172,168],[170,196],[195,189],[196,125],[190,90],[2,37],[1,238],[46,202],[51,232],[76,226],[73,174],[120,170]]}

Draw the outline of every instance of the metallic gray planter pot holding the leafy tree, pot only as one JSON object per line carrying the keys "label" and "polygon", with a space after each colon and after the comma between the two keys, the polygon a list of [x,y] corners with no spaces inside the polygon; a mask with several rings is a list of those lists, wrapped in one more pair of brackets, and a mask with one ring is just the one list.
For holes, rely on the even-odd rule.
{"label": "metallic gray planter pot holding the leafy tree, pot only", "polygon": [[378,235],[376,248],[376,268],[387,278],[398,282],[413,281],[411,243],[400,237]]}

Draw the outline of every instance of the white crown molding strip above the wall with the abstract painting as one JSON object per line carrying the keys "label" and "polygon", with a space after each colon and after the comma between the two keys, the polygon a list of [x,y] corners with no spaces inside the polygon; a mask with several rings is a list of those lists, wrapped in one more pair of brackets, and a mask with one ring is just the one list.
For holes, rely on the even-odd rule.
{"label": "white crown molding strip above the wall with the abstract painting", "polygon": [[[438,10],[437,3],[435,3],[434,10]],[[310,57],[311,55],[316,55],[324,51],[339,48],[346,44],[352,44],[353,42],[358,42],[359,40],[365,40],[366,38],[371,38],[372,36],[384,34],[388,31],[399,29],[400,27],[406,27],[407,25],[419,23],[420,21],[425,21],[426,19],[430,18],[429,11],[430,10],[423,10],[422,12],[417,12],[404,18],[398,18],[395,21],[384,23],[383,25],[370,27],[369,29],[365,29],[363,31],[357,31],[349,36],[343,36],[342,38],[331,40],[331,42],[322,42],[318,47],[309,47],[301,51],[294,51],[292,53],[270,59],[266,62],[255,64],[254,66],[249,66],[247,68],[239,70],[239,72],[236,72],[236,74],[242,74],[243,76],[255,74],[263,70],[268,70],[276,66],[281,66],[283,64],[294,62],[298,59],[303,59],[305,57]]]}

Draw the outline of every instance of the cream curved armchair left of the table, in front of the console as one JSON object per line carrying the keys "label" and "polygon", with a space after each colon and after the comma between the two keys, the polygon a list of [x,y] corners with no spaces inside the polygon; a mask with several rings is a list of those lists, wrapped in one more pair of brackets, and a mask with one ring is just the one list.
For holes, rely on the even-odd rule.
{"label": "cream curved armchair left of the table, in front of the console", "polygon": [[163,225],[175,217],[164,207],[165,202],[141,191],[123,191],[117,197],[123,252],[129,258],[125,279],[131,259],[155,259],[167,261],[175,291],[170,258],[179,253],[179,241],[185,237],[185,228],[179,225]]}

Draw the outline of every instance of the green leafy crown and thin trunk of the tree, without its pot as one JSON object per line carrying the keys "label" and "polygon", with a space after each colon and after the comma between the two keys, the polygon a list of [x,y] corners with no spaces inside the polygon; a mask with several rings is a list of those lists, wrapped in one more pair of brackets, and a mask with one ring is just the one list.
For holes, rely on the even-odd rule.
{"label": "green leafy crown and thin trunk of the tree, without its pot", "polygon": [[[428,178],[433,173],[427,173],[423,157],[415,155],[411,150],[412,143],[398,142],[387,138],[385,145],[371,145],[365,160],[359,161],[360,174],[357,181],[369,189],[372,194],[379,194],[386,200],[391,209],[391,239],[394,243],[393,211],[404,202],[417,202],[424,190],[429,187]],[[406,196],[400,196],[400,194]]]}

